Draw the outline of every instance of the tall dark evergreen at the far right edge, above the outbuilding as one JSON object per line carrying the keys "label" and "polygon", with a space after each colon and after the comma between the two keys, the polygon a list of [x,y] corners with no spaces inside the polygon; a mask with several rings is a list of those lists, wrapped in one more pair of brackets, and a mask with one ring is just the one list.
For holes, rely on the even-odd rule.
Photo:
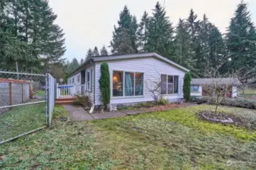
{"label": "tall dark evergreen at the far right edge, above the outbuilding", "polygon": [[256,32],[251,21],[250,11],[245,2],[241,2],[235,10],[228,32],[226,44],[232,60],[226,68],[230,71],[242,70],[247,73],[256,66]]}

